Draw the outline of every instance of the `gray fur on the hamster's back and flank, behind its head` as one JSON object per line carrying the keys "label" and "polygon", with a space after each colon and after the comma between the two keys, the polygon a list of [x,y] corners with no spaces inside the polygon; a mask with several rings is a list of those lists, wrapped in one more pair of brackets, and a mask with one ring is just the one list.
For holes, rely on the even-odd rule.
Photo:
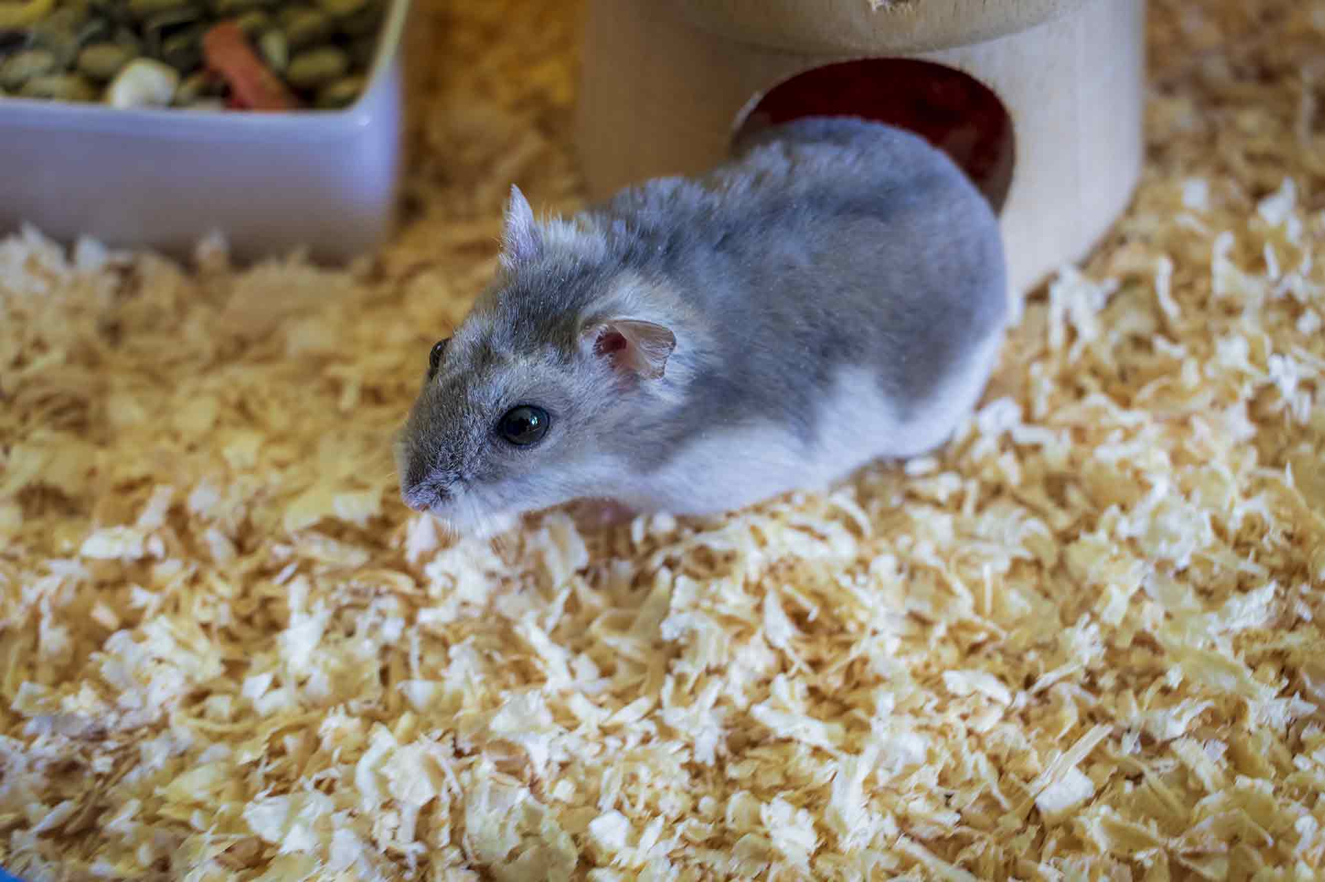
{"label": "gray fur on the hamster's back and flank, behind its head", "polygon": [[[844,367],[872,368],[905,422],[1007,315],[988,203],[943,154],[888,126],[776,126],[705,177],[649,181],[588,215],[612,234],[584,273],[666,279],[719,323],[712,359],[694,364],[704,395],[636,434],[641,466],[723,425],[774,421],[812,442]],[[562,291],[588,294],[584,281]]]}

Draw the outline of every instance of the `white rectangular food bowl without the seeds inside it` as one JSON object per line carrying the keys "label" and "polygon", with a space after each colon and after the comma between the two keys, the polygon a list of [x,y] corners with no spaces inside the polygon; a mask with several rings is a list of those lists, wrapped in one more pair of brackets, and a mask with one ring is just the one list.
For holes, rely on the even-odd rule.
{"label": "white rectangular food bowl without the seeds inside it", "polygon": [[403,128],[391,0],[359,99],[338,111],[119,110],[0,98],[0,233],[192,252],[221,233],[240,261],[306,248],[342,262],[391,232]]}

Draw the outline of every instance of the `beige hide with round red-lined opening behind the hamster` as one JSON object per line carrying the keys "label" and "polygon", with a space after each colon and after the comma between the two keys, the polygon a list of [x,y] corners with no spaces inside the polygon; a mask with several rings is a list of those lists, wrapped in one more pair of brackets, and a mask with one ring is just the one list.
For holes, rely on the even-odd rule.
{"label": "beige hide with round red-lined opening behind the hamster", "polygon": [[913,128],[999,208],[1022,294],[1083,257],[1142,159],[1145,0],[591,0],[591,195],[722,162],[814,113]]}

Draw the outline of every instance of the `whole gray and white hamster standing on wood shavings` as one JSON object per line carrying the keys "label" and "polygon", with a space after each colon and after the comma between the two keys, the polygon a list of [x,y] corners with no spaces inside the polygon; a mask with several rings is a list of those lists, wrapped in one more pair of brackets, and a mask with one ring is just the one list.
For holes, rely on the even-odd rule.
{"label": "whole gray and white hamster standing on wood shavings", "polygon": [[396,436],[401,497],[468,535],[579,499],[713,515],[825,489],[950,438],[1007,295],[986,199],[881,123],[776,126],[570,220],[511,187],[496,278]]}

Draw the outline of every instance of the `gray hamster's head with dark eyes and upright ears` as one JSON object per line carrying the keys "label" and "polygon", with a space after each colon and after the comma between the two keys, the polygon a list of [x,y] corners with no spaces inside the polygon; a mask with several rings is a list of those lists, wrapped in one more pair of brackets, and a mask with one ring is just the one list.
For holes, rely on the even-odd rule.
{"label": "gray hamster's head with dark eyes and upright ears", "polygon": [[518,189],[506,215],[502,271],[428,352],[395,441],[405,505],[461,535],[611,495],[624,465],[613,424],[659,385],[676,347],[662,323],[576,306],[586,299],[562,290],[564,273],[534,266],[554,242]]}

